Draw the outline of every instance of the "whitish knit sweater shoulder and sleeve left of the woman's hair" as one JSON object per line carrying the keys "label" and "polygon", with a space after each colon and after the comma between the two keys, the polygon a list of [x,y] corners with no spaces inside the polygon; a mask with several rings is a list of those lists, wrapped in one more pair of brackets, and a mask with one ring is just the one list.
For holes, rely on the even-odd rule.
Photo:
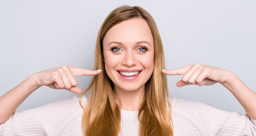
{"label": "whitish knit sweater shoulder and sleeve left of the woman's hair", "polygon": [[0,135],[81,135],[81,116],[79,98],[73,97],[15,112],[0,125]]}

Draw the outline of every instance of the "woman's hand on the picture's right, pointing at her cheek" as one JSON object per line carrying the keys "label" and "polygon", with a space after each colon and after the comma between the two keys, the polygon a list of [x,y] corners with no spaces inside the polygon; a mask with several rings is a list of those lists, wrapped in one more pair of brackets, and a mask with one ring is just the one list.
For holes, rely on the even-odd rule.
{"label": "woman's hand on the picture's right, pointing at her cheek", "polygon": [[182,79],[177,82],[178,87],[188,84],[199,86],[212,85],[214,83],[224,84],[230,72],[218,67],[192,64],[175,70],[162,70],[167,75],[183,75]]}

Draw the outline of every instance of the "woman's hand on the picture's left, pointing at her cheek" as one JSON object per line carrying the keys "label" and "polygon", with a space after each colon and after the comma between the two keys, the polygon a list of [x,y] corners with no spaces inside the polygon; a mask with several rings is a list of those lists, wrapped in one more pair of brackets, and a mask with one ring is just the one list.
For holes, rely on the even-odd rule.
{"label": "woman's hand on the picture's left, pointing at her cheek", "polygon": [[82,90],[77,87],[76,75],[97,75],[101,70],[80,69],[73,66],[61,66],[36,73],[35,82],[38,86],[48,86],[53,89],[65,89],[75,94],[81,94]]}

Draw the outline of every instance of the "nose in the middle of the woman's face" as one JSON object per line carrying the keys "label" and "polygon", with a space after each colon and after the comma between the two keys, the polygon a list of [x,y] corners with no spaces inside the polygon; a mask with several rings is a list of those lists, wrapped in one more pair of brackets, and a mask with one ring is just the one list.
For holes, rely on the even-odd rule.
{"label": "nose in the middle of the woman's face", "polygon": [[137,59],[135,54],[131,51],[126,52],[125,56],[123,56],[122,65],[126,65],[127,67],[135,66],[137,64]]}

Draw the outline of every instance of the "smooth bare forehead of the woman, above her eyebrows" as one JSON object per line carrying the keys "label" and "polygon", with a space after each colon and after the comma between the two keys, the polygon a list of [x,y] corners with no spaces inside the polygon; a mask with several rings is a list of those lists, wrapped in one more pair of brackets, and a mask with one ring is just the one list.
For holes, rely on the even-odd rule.
{"label": "smooth bare forehead of the woman, above her eyebrows", "polygon": [[150,27],[148,27],[146,20],[142,18],[125,20],[110,28],[104,37],[103,44],[108,45],[112,41],[122,42],[123,44],[147,41],[151,45],[154,45]]}

